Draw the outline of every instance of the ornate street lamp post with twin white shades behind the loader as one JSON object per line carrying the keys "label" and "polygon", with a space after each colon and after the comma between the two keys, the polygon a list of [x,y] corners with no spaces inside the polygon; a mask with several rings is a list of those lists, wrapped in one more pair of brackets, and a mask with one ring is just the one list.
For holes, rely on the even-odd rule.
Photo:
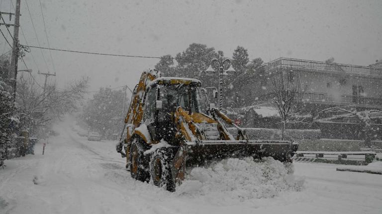
{"label": "ornate street lamp post with twin white shades behind the loader", "polygon": [[[218,80],[219,80],[219,85],[218,85],[218,97],[219,97],[219,100],[218,100],[218,107],[219,107],[219,110],[221,110],[221,106],[222,106],[222,101],[223,101],[223,78],[226,77],[227,75],[234,75],[236,73],[235,69],[233,69],[232,67],[232,61],[231,59],[229,58],[226,58],[226,59],[223,59],[223,58],[213,58],[211,60],[211,62],[209,63],[209,66],[207,68],[207,70],[205,70],[205,73],[208,75],[208,76],[212,76],[214,75],[216,72],[215,70],[212,68],[212,63],[214,62],[217,62],[219,64],[219,72],[218,72]],[[229,67],[228,69],[224,70],[224,63],[228,62],[229,63]]]}

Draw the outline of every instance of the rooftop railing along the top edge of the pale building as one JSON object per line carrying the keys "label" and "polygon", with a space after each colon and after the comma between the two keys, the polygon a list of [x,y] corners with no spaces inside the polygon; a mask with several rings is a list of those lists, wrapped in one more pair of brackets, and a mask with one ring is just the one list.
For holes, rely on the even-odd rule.
{"label": "rooftop railing along the top edge of the pale building", "polygon": [[292,67],[302,67],[302,68],[311,68],[311,69],[319,69],[319,70],[333,70],[333,71],[343,71],[343,72],[350,72],[350,73],[382,75],[382,68],[358,66],[358,65],[350,65],[350,64],[340,64],[340,63],[326,63],[321,61],[293,59],[293,58],[278,58],[271,62],[268,62],[265,65],[260,66],[259,69],[262,68],[265,71],[267,71],[279,66],[292,66]]}

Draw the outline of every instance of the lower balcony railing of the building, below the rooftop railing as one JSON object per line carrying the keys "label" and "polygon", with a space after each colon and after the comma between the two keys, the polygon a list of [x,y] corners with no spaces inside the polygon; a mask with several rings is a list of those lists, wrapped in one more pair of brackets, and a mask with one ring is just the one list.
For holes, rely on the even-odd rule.
{"label": "lower balcony railing of the building, below the rooftop railing", "polygon": [[[365,97],[354,95],[341,95],[338,98],[334,98],[332,95],[326,93],[316,92],[298,92],[301,95],[303,101],[321,101],[321,102],[339,102],[348,104],[367,104],[367,105],[379,105],[382,106],[382,98],[377,97]],[[275,97],[275,93],[268,93],[259,96],[259,101],[270,101]]]}

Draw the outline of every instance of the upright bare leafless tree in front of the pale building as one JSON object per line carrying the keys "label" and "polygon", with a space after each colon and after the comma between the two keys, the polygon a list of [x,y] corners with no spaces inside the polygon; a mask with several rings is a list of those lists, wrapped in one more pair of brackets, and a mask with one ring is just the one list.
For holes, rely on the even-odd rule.
{"label": "upright bare leafless tree in front of the pale building", "polygon": [[295,77],[293,73],[280,72],[280,74],[274,74],[270,79],[273,90],[271,101],[279,110],[283,123],[282,140],[284,140],[286,123],[304,122],[306,119],[311,118],[311,115],[303,116],[299,114],[302,93],[298,76]]}

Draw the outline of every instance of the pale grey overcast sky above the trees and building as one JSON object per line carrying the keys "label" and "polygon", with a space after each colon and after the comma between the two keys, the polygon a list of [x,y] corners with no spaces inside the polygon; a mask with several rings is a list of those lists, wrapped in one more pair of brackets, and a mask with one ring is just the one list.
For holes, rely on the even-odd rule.
{"label": "pale grey overcast sky above the trees and building", "polygon": [[[10,0],[0,0],[9,11]],[[15,4],[15,0],[12,0]],[[225,56],[237,46],[250,59],[280,56],[369,65],[382,59],[381,0],[41,0],[51,48],[110,54],[162,56],[202,43]],[[28,0],[40,45],[47,47],[39,0]],[[20,24],[29,45],[38,46],[21,0]],[[8,20],[7,18],[5,20]],[[13,20],[12,20],[13,22]],[[6,32],[4,26],[1,30]],[[8,36],[8,39],[9,36]],[[20,43],[25,40],[20,31]],[[8,47],[0,38],[0,51]],[[37,76],[55,72],[59,87],[81,76],[89,90],[133,87],[141,72],[159,59],[126,58],[31,49],[25,56]],[[31,54],[37,62],[33,62]],[[19,69],[24,65],[19,63]],[[38,81],[43,82],[42,75]],[[53,80],[53,78],[52,78]]]}

